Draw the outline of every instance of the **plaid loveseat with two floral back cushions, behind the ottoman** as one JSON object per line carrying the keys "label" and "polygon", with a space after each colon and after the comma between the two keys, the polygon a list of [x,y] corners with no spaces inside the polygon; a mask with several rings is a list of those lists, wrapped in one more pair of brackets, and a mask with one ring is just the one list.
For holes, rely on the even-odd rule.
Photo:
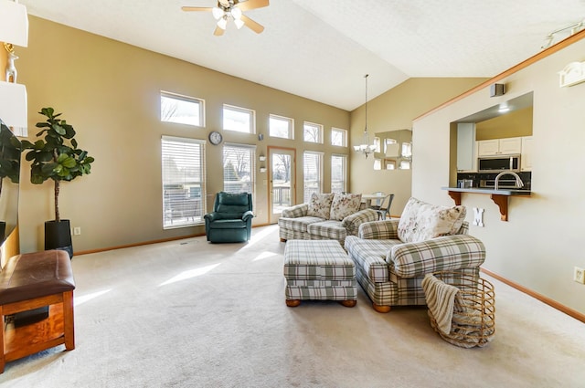
{"label": "plaid loveseat with two floral back cushions, behind the ottoman", "polygon": [[346,236],[356,236],[364,222],[378,219],[378,212],[363,209],[347,215],[343,220],[326,220],[307,215],[309,204],[296,204],[282,210],[278,220],[281,241],[286,240],[337,240],[343,246]]}

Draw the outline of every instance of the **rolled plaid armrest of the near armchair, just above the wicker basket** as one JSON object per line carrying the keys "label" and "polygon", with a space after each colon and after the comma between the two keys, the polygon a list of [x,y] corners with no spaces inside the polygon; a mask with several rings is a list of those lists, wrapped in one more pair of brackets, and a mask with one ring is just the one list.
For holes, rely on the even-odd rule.
{"label": "rolled plaid armrest of the near armchair, just above the wicker basket", "polygon": [[418,278],[438,271],[480,267],[485,246],[478,238],[453,235],[392,246],[386,261],[399,278]]}

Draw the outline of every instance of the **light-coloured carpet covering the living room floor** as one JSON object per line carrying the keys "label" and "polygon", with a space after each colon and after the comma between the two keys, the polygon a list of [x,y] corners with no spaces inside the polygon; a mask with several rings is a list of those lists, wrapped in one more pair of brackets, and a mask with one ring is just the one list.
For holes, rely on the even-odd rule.
{"label": "light-coloured carpet covering the living room floor", "polygon": [[287,308],[278,228],[252,236],[74,257],[76,349],[7,363],[2,387],[585,386],[585,325],[494,279],[495,340],[463,349],[361,288]]}

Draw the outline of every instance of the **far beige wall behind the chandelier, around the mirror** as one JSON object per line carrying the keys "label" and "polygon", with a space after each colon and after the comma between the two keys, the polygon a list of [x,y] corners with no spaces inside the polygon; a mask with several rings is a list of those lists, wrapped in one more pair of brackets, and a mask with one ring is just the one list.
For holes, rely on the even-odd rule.
{"label": "far beige wall behind the chandelier, around the mirror", "polygon": [[[370,139],[377,132],[412,128],[412,121],[425,111],[441,105],[485,79],[408,79],[367,103],[367,129]],[[351,144],[362,142],[365,125],[365,107],[351,114]],[[417,144],[413,143],[412,164],[419,160]],[[353,152],[353,151],[352,151]],[[400,215],[410,198],[412,184],[410,170],[374,171],[374,158],[367,159],[353,152],[350,166],[350,190],[353,193],[394,193],[390,208],[392,215]]]}

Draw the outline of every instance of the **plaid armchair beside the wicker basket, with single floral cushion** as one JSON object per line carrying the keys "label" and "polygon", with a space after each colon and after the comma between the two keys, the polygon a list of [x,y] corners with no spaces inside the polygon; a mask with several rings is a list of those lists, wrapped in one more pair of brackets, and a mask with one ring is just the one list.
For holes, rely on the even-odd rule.
{"label": "plaid armchair beside the wicker basket, with single floral cushion", "polygon": [[461,271],[479,278],[485,247],[467,235],[466,222],[456,235],[417,243],[400,241],[398,225],[398,219],[366,222],[359,225],[357,236],[346,237],[345,248],[356,264],[357,282],[377,311],[426,305],[420,283],[428,273]]}

